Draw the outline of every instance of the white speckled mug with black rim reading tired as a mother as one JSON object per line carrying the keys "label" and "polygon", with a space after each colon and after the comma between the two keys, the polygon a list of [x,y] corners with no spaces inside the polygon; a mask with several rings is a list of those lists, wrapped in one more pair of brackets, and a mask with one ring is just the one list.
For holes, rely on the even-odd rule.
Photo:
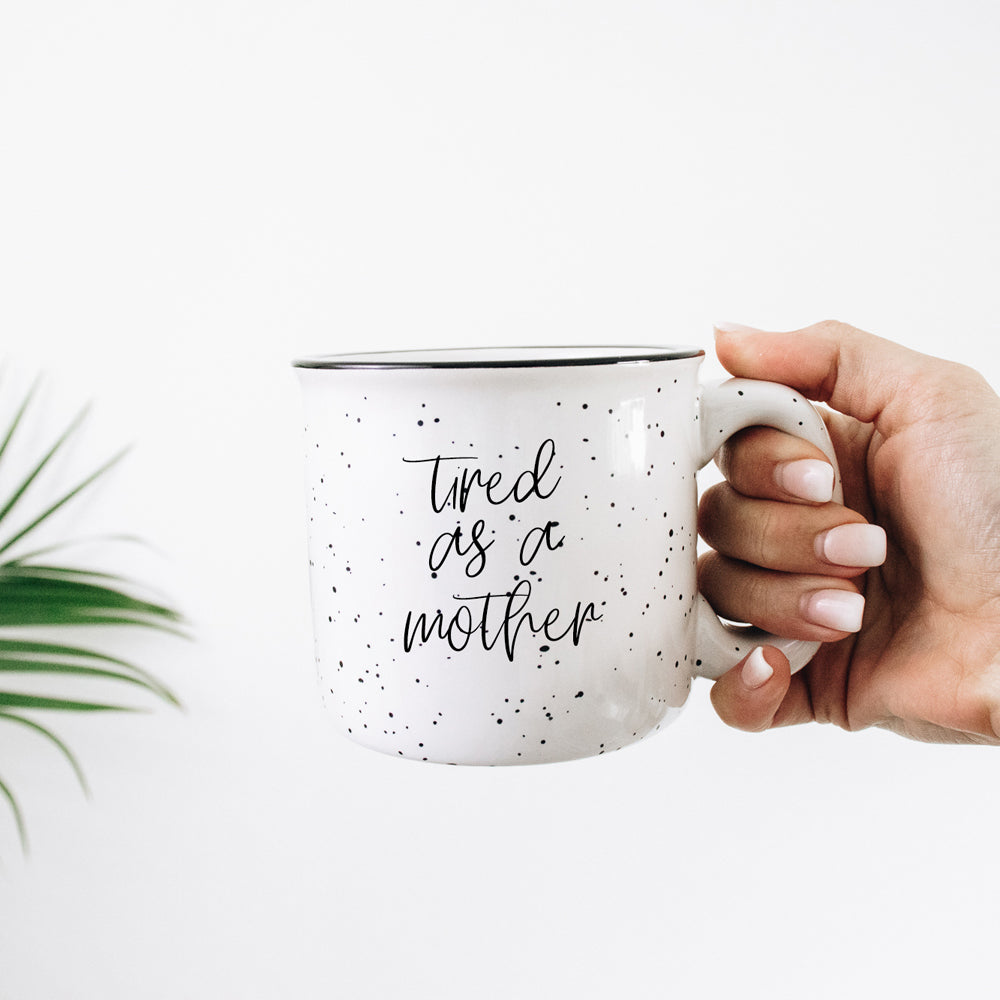
{"label": "white speckled mug with black rim reading tired as a mother", "polygon": [[[698,593],[697,471],[736,431],[819,446],[785,386],[702,387],[693,347],[532,347],[294,362],[316,663],[337,726],[453,764],[617,750],[754,645]],[[839,473],[836,473],[839,492]]]}

